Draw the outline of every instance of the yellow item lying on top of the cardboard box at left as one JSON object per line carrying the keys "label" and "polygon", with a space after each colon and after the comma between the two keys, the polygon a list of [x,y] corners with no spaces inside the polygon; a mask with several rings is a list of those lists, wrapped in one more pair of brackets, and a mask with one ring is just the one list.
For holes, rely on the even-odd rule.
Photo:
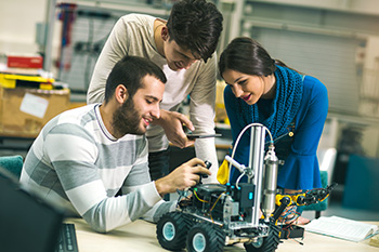
{"label": "yellow item lying on top of the cardboard box at left", "polygon": [[15,89],[17,80],[35,82],[39,84],[39,89],[44,90],[52,90],[52,83],[55,81],[53,78],[43,78],[40,76],[0,74],[0,85],[5,89]]}

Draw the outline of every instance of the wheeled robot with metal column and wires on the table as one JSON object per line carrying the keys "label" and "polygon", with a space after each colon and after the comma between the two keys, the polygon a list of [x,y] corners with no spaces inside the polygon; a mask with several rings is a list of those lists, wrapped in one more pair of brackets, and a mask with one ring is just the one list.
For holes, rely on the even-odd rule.
{"label": "wheeled robot with metal column and wires on the table", "polygon": [[[267,129],[259,123],[248,127],[251,127],[249,167],[225,157],[241,176],[248,176],[248,182],[239,183],[240,176],[235,184],[199,183],[188,190],[178,191],[179,210],[166,213],[157,223],[157,239],[161,247],[171,251],[186,248],[188,252],[215,252],[223,251],[225,246],[243,243],[247,252],[274,252],[280,239],[288,238],[288,226],[278,224],[284,210],[288,205],[306,205],[328,197],[336,185],[296,195],[277,194],[280,161],[273,141],[263,156]],[[303,235],[302,228],[296,230],[298,237]]]}

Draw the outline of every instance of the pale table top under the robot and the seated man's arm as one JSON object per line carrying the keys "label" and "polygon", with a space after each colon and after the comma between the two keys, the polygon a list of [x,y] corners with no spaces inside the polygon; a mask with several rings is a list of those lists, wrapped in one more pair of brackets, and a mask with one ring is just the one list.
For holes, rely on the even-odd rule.
{"label": "pale table top under the robot and the seated man's arm", "polygon": [[[142,252],[167,251],[160,247],[156,238],[156,225],[145,221],[135,221],[108,234],[93,231],[82,218],[68,218],[66,223],[74,223],[80,252]],[[373,222],[378,225],[379,222]],[[297,239],[299,240],[299,239]],[[277,252],[378,252],[379,248],[368,246],[368,240],[356,243],[332,237],[306,233],[301,241],[282,240]],[[224,251],[245,251],[243,244],[225,247]]]}

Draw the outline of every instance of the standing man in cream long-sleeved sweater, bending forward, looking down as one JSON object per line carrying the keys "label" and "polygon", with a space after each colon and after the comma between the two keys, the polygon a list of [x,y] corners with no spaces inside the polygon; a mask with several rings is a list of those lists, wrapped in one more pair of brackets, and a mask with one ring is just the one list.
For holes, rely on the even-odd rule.
{"label": "standing man in cream long-sleeved sweater, bending forward, looking down", "polygon": [[[143,14],[122,16],[113,28],[95,65],[88,103],[104,100],[105,80],[114,64],[125,55],[153,61],[166,74],[160,118],[148,127],[148,161],[152,180],[169,172],[169,142],[181,148],[195,144],[196,157],[209,160],[217,182],[219,167],[214,138],[188,140],[185,124],[194,133],[214,133],[217,80],[215,48],[222,31],[222,15],[205,0],[181,0],[173,4],[168,21]],[[190,120],[177,110],[190,97]]]}

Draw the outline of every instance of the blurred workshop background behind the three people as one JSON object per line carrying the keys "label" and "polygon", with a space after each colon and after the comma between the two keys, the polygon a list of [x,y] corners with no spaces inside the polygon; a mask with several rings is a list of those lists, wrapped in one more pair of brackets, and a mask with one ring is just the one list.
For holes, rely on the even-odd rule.
{"label": "blurred workshop background behind the three people", "polygon": [[[173,2],[1,1],[0,156],[25,157],[48,120],[86,103],[94,64],[120,16],[145,13],[167,18]],[[327,87],[329,112],[317,155],[328,182],[339,185],[322,214],[379,221],[379,1],[213,2],[224,16],[219,53],[233,38],[248,36],[272,57],[315,76]],[[17,65],[17,56],[42,61],[25,67]],[[11,59],[15,65],[10,65]],[[36,77],[43,80],[32,79]],[[34,91],[22,87],[35,82]],[[220,161],[232,143],[223,88],[219,80],[215,122],[217,131],[223,133],[217,140]],[[26,93],[34,95],[26,100]],[[187,111],[187,101],[181,109]],[[191,158],[194,150],[173,151]]]}

